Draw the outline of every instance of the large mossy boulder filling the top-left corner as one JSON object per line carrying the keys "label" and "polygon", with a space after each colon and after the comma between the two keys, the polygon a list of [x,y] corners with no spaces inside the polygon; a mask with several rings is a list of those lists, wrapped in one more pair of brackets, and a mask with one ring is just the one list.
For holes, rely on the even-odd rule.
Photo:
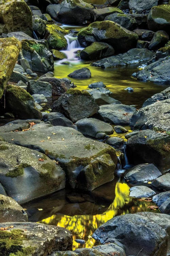
{"label": "large mossy boulder filling the top-left corner", "polygon": [[33,33],[32,13],[24,0],[0,1],[0,34],[22,31]]}

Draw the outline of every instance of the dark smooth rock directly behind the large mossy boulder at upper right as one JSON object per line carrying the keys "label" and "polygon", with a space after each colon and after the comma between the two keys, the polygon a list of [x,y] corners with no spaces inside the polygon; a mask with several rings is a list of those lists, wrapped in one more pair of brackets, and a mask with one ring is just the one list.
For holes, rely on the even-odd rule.
{"label": "dark smooth rock directly behind the large mossy boulder at upper right", "polygon": [[137,27],[136,20],[129,14],[113,13],[106,16],[104,20],[111,20],[116,22],[128,30],[134,30]]}

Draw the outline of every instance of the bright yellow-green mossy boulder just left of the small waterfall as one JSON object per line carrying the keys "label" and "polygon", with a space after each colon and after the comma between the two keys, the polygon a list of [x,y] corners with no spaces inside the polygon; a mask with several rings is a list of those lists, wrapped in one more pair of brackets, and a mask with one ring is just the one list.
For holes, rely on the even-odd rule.
{"label": "bright yellow-green mossy boulder just left of the small waterfall", "polygon": [[67,40],[64,37],[64,29],[53,24],[47,25],[47,31],[49,31],[50,33],[49,38],[47,40],[50,49],[62,50],[67,48]]}

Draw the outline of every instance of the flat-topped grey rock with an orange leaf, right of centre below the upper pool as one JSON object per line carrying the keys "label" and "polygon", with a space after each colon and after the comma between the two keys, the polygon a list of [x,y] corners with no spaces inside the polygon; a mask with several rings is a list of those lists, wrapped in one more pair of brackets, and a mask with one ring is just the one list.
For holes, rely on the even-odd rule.
{"label": "flat-topped grey rock with an orange leaf, right of centre below the upper pool", "polygon": [[104,122],[130,124],[131,117],[135,111],[134,107],[123,104],[102,105],[98,111],[98,116]]}

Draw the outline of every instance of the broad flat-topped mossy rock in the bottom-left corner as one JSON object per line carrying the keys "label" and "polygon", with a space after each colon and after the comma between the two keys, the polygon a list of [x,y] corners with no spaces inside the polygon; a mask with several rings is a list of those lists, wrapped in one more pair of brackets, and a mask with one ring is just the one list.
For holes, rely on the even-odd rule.
{"label": "broad flat-topped mossy rock in the bottom-left corner", "polygon": [[[35,255],[47,255],[56,250],[72,249],[72,234],[65,228],[52,225],[38,224],[34,222],[6,222],[1,223],[1,227],[14,226],[8,228],[0,234],[0,241],[4,254],[17,253]],[[10,240],[11,237],[11,240]],[[9,241],[10,240],[10,241]],[[27,243],[25,242],[27,241]],[[10,242],[11,247],[7,246]]]}

